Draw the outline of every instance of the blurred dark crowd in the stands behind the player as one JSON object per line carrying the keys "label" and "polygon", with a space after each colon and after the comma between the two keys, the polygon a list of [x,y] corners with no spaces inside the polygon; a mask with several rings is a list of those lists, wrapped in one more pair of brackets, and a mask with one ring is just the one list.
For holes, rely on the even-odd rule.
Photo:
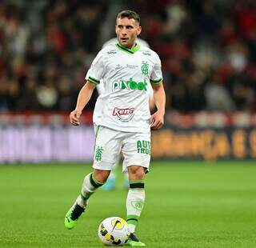
{"label": "blurred dark crowd in the stands behind the player", "polygon": [[141,38],[162,59],[167,110],[256,110],[254,0],[9,0],[0,2],[0,111],[72,110],[116,2],[138,11]]}

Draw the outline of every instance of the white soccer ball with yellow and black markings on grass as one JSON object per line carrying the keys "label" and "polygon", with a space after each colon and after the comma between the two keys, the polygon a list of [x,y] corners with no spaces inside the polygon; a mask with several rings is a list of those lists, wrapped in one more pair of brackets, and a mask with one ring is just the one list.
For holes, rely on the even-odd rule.
{"label": "white soccer ball with yellow and black markings on grass", "polygon": [[128,224],[120,217],[106,218],[98,226],[98,238],[106,246],[122,246],[129,236]]}

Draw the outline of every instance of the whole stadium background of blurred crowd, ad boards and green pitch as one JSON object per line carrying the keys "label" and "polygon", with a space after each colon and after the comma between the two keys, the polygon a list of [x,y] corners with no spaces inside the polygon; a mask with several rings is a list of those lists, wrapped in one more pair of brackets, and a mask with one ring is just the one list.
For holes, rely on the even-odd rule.
{"label": "whole stadium background of blurred crowd, ad boards and green pitch", "polygon": [[167,99],[166,125],[152,134],[142,238],[149,247],[255,247],[253,0],[1,1],[1,247],[96,247],[100,219],[125,216],[120,182],[106,208],[105,193],[95,195],[93,227],[78,227],[76,242],[58,226],[90,170],[96,90],[82,126],[70,126],[69,112],[123,9],[141,15]]}

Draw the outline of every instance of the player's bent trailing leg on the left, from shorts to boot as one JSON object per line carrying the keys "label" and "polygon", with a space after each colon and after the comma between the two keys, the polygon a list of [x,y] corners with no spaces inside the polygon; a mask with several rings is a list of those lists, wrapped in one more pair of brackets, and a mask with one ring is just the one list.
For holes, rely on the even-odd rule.
{"label": "player's bent trailing leg on the left, from shorts to boot", "polygon": [[98,130],[94,150],[94,172],[86,175],[81,194],[66,213],[65,226],[67,229],[74,228],[78,218],[86,210],[90,196],[106,182],[121,150],[117,136],[116,131],[102,126]]}

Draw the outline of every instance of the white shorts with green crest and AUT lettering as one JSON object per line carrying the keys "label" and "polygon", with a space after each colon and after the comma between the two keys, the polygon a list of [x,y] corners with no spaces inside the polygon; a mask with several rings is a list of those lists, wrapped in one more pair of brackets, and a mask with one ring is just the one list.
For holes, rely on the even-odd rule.
{"label": "white shorts with green crest and AUT lettering", "polygon": [[130,133],[94,126],[94,169],[112,170],[122,151],[122,171],[129,166],[150,167],[150,132]]}

